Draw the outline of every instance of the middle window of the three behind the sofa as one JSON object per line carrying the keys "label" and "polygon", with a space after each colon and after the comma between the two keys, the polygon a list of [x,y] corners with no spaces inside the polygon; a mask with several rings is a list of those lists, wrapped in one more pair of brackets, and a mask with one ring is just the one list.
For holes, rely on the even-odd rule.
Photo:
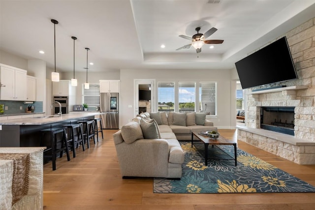
{"label": "middle window of the three behind the sofa", "polygon": [[179,112],[195,111],[195,87],[194,82],[178,83]]}

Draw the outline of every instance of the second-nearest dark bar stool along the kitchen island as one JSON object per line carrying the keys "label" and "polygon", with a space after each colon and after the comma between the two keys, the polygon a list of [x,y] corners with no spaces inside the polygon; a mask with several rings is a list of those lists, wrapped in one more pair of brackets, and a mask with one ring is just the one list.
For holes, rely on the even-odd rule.
{"label": "second-nearest dark bar stool along the kitchen island", "polygon": [[[85,151],[85,146],[84,146],[84,141],[83,141],[83,133],[82,133],[82,123],[77,123],[77,124],[66,124],[63,125],[64,127],[70,128],[70,136],[67,139],[67,142],[72,142],[72,153],[73,157],[76,156],[75,148],[78,148],[80,143],[82,143],[82,149]],[[77,131],[77,137],[75,138],[75,133],[74,130]]]}

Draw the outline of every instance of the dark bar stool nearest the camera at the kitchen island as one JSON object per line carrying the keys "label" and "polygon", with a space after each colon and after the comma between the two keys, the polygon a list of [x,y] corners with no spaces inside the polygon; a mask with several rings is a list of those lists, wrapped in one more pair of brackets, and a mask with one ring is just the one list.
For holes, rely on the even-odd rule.
{"label": "dark bar stool nearest the camera at the kitchen island", "polygon": [[[44,130],[41,130],[43,138],[42,141],[44,140],[45,134],[50,134],[50,144],[51,148],[48,148],[45,151],[51,150],[51,155],[45,155],[49,156],[52,158],[52,163],[53,163],[53,171],[56,170],[56,159],[57,159],[57,153],[60,152],[60,157],[63,156],[63,151],[65,150],[67,154],[67,160],[70,161],[70,154],[69,154],[69,148],[68,148],[68,142],[66,140],[66,128],[65,127],[54,127],[54,128],[47,128]],[[61,139],[61,147],[58,148],[58,139],[57,139],[57,134],[62,133],[63,137]],[[43,145],[41,143],[41,145]]]}

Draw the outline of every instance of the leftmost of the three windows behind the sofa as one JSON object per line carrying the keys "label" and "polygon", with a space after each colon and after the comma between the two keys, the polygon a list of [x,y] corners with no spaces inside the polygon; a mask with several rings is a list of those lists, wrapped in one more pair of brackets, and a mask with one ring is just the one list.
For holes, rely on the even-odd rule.
{"label": "leftmost of the three windows behind the sofa", "polygon": [[158,82],[158,111],[174,112],[175,83]]}

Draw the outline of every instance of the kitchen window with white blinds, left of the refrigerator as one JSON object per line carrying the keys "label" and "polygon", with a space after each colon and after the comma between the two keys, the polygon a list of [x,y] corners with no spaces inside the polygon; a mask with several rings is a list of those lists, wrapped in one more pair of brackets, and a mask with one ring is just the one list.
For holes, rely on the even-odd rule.
{"label": "kitchen window with white blinds, left of the refrigerator", "polygon": [[98,107],[99,103],[99,84],[91,84],[90,89],[84,89],[82,84],[82,103],[86,103],[89,107]]}

